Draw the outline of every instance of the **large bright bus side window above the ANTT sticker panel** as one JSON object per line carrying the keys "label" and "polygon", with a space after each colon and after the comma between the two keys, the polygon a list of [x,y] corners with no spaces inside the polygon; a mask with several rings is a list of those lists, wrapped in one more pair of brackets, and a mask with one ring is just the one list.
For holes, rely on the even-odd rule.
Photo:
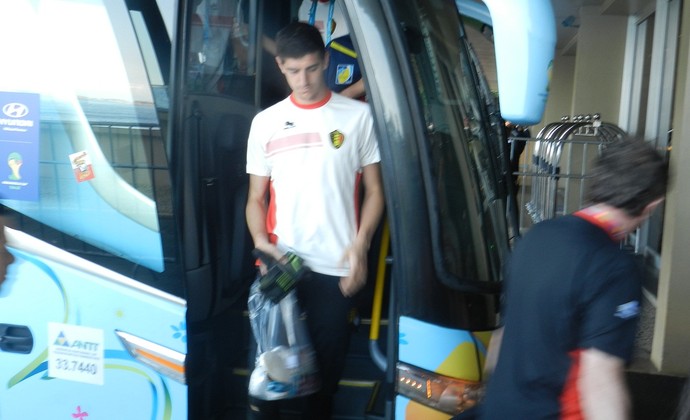
{"label": "large bright bus side window above the ANTT sticker panel", "polygon": [[0,7],[0,25],[23,40],[0,68],[0,99],[30,104],[38,128],[0,142],[0,154],[23,159],[21,181],[0,172],[0,194],[18,230],[181,296],[150,80],[163,82],[147,74],[137,16],[118,1]]}

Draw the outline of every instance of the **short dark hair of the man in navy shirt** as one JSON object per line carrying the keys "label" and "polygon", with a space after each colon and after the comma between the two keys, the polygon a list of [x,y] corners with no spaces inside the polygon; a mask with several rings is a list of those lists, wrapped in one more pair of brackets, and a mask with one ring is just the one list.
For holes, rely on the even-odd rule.
{"label": "short dark hair of the man in navy shirt", "polygon": [[589,199],[637,217],[666,194],[668,166],[648,143],[623,139],[607,145],[592,171]]}

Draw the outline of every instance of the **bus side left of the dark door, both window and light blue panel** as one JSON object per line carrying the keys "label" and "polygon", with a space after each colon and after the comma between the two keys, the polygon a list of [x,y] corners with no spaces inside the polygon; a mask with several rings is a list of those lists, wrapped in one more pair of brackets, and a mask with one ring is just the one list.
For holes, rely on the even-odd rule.
{"label": "bus side left of the dark door, both window and light blue panel", "polygon": [[[170,11],[174,12],[174,11]],[[0,418],[186,418],[166,150],[174,13],[0,4]],[[167,58],[166,58],[167,50]]]}

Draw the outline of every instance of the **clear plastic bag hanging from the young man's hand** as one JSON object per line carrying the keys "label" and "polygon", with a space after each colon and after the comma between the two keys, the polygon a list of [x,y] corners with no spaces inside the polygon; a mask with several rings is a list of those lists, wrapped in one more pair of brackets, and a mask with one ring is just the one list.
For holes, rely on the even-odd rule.
{"label": "clear plastic bag hanging from the young man's hand", "polygon": [[271,401],[318,391],[316,355],[295,290],[275,303],[261,293],[257,279],[249,291],[248,307],[257,345],[249,395]]}

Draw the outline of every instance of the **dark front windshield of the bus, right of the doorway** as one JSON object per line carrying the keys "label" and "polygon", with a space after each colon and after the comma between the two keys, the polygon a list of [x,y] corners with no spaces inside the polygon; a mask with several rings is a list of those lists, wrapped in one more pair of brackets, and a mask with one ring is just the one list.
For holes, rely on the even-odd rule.
{"label": "dark front windshield of the bus, right of the doorway", "polygon": [[[422,2],[419,7],[431,9],[434,4]],[[495,139],[488,136],[491,121],[486,99],[477,91],[476,64],[461,34],[448,32],[457,30],[446,21],[454,22],[456,12],[449,7],[446,12],[417,14],[421,26],[415,16],[403,21],[430,151],[434,259],[444,283],[470,291],[469,284],[500,280],[505,211],[491,146]]]}

